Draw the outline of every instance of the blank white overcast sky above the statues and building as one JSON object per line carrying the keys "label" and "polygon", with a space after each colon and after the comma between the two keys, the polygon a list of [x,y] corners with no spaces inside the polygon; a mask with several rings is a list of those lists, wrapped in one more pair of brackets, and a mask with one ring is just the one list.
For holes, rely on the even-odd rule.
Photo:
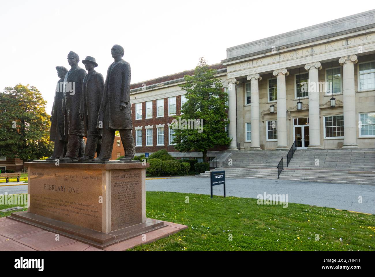
{"label": "blank white overcast sky above the statues and building", "polygon": [[[0,91],[36,86],[51,112],[66,57],[93,56],[104,78],[111,47],[125,49],[132,83],[226,58],[226,48],[375,8],[374,1],[4,1],[0,2]],[[84,65],[79,63],[84,68]]]}

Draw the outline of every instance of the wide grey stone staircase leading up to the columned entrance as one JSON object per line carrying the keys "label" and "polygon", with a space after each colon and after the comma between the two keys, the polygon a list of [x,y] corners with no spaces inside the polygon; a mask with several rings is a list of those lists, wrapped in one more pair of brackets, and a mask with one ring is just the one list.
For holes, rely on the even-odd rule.
{"label": "wide grey stone staircase leading up to the columned entrance", "polygon": [[[296,150],[287,167],[288,151],[238,151],[225,165],[210,171],[225,170],[232,178],[277,179],[277,165],[284,157],[280,179],[347,184],[375,185],[375,149],[314,149]],[[206,171],[199,177],[209,177]]]}

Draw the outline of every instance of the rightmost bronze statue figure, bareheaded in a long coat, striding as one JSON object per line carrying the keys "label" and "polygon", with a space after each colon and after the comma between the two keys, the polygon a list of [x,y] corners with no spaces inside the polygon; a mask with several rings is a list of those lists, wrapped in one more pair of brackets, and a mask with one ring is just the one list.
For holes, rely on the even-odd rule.
{"label": "rightmost bronze statue figure, bareheaded in a long coat, striding", "polygon": [[104,94],[98,114],[97,127],[103,128],[102,147],[99,157],[93,161],[111,158],[115,131],[120,132],[125,150],[122,161],[130,161],[135,155],[132,135],[133,123],[130,110],[130,65],[125,62],[124,48],[113,45],[111,49],[114,62],[109,66],[104,84]]}

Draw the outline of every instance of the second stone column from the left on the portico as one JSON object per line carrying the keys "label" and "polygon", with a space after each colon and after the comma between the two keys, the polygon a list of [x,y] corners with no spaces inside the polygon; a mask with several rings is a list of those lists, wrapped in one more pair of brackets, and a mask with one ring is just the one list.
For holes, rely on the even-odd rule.
{"label": "second stone column from the left on the portico", "polygon": [[[259,87],[258,81],[262,80],[259,74],[248,75],[246,78],[251,81],[251,149],[261,150],[259,134]],[[245,134],[246,135],[246,134]]]}

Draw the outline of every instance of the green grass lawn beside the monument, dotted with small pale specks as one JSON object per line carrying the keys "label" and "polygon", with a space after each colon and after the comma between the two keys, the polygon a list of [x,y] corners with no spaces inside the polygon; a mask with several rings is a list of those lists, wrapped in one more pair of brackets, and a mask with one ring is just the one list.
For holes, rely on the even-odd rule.
{"label": "green grass lawn beside the monument, dotted with small pale specks", "polygon": [[[189,196],[189,203],[185,197]],[[15,205],[0,205],[0,209]],[[26,209],[25,209],[26,210]],[[132,250],[374,250],[375,215],[257,199],[146,192],[147,217],[189,226]],[[0,212],[0,217],[8,215]],[[233,237],[229,240],[229,234]],[[315,240],[319,234],[319,241]],[[340,241],[341,238],[341,241]]]}

